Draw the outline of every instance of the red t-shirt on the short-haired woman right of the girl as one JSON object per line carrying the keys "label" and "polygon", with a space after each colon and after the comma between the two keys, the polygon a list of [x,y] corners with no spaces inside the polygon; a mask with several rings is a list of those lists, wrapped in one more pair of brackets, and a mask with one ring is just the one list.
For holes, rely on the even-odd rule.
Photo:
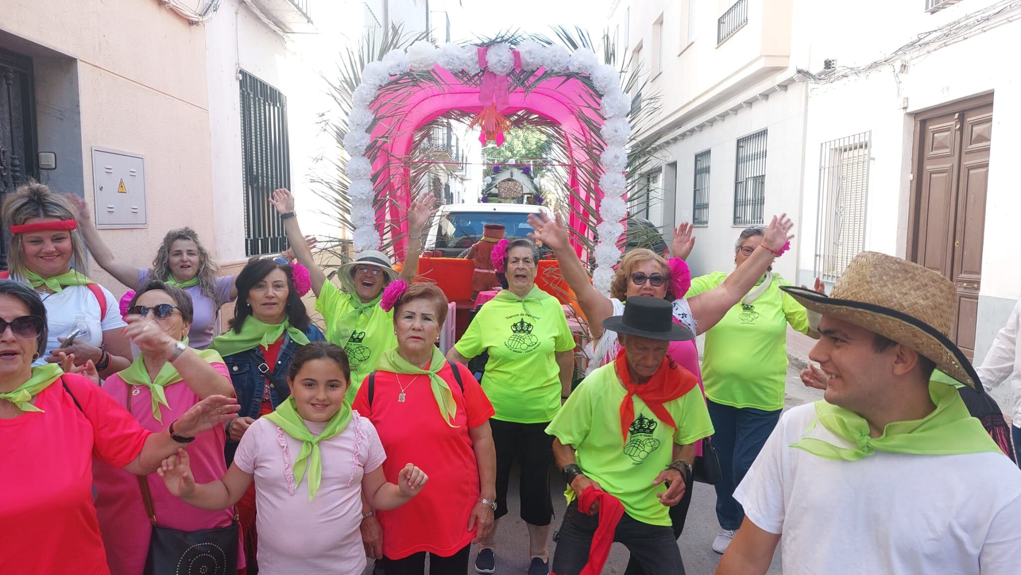
{"label": "red t-shirt on the short-haired woman right of the girl", "polygon": [[[369,386],[362,385],[353,408],[376,426],[386,461],[383,473],[396,482],[408,463],[429,475],[429,484],[410,501],[392,511],[377,512],[383,526],[383,555],[401,559],[419,552],[448,557],[472,542],[475,531],[468,520],[479,499],[479,466],[469,428],[478,427],[495,413],[482,386],[460,364],[465,392],[453,378],[450,365],[439,375],[450,385],[457,413],[454,425],[443,421],[433,397],[429,376],[376,372],[376,390],[369,406]],[[404,402],[397,401],[401,387]]]}

